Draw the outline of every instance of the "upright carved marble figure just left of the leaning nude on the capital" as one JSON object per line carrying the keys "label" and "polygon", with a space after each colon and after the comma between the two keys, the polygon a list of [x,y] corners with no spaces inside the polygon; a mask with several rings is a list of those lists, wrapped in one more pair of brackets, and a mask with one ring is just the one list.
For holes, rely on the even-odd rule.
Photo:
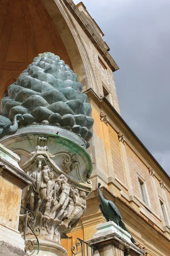
{"label": "upright carved marble figure just left of the leaning nude on the capital", "polygon": [[44,166],[42,169],[42,179],[41,179],[41,185],[40,185],[40,192],[39,192],[39,200],[37,202],[37,207],[35,209],[35,213],[40,214],[40,206],[42,204],[42,201],[48,200],[48,181],[50,178],[48,177],[48,173],[50,172],[50,169],[48,166]]}

